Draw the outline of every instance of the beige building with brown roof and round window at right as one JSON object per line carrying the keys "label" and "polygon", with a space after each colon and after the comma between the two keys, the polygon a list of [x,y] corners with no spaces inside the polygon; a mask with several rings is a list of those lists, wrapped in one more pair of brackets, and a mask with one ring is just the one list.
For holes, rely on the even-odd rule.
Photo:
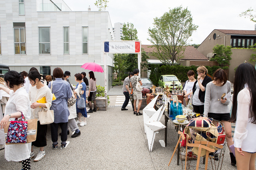
{"label": "beige building with brown roof and round window at right", "polygon": [[[234,48],[248,48],[255,44],[256,31],[254,30],[213,30],[209,36],[197,48],[204,56],[213,57],[213,47],[216,44],[230,45]],[[231,49],[232,59],[229,66],[229,81],[233,82],[235,72],[234,69],[250,59],[251,54],[256,51],[250,49]]]}

